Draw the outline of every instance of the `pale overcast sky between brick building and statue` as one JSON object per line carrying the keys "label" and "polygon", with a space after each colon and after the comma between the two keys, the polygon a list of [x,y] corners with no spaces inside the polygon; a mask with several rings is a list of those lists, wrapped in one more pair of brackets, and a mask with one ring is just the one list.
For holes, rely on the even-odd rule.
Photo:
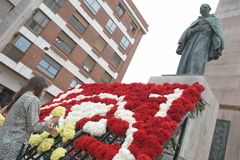
{"label": "pale overcast sky between brick building and statue", "polygon": [[132,0],[149,24],[122,83],[147,83],[151,76],[175,74],[180,56],[177,42],[183,31],[200,16],[203,3],[213,14],[219,0]]}

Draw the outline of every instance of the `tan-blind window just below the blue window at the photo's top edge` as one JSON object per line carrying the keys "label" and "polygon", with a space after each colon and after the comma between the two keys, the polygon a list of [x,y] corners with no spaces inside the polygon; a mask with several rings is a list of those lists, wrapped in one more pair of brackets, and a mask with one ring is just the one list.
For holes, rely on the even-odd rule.
{"label": "tan-blind window just below the blue window at the photo's top edge", "polygon": [[81,33],[84,33],[89,23],[80,15],[78,12],[75,12],[70,19],[71,24],[76,27]]}

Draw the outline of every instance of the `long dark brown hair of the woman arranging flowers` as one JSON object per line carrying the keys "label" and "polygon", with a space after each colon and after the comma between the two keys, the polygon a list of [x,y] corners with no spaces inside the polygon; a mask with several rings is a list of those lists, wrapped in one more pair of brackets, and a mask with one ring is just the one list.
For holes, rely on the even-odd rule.
{"label": "long dark brown hair of the woman arranging flowers", "polygon": [[43,76],[34,76],[29,79],[22,88],[13,96],[11,102],[8,104],[6,111],[8,112],[12,105],[27,91],[33,91],[33,94],[40,98],[42,90],[48,87],[47,80]]}

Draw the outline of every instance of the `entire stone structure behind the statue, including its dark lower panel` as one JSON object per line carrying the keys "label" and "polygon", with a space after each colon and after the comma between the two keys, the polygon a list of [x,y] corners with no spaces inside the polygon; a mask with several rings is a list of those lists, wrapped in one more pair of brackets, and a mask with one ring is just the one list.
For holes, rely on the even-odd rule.
{"label": "entire stone structure behind the statue, including its dark lower panel", "polygon": [[220,107],[209,159],[240,158],[240,1],[220,0],[225,49],[206,68],[205,78]]}

